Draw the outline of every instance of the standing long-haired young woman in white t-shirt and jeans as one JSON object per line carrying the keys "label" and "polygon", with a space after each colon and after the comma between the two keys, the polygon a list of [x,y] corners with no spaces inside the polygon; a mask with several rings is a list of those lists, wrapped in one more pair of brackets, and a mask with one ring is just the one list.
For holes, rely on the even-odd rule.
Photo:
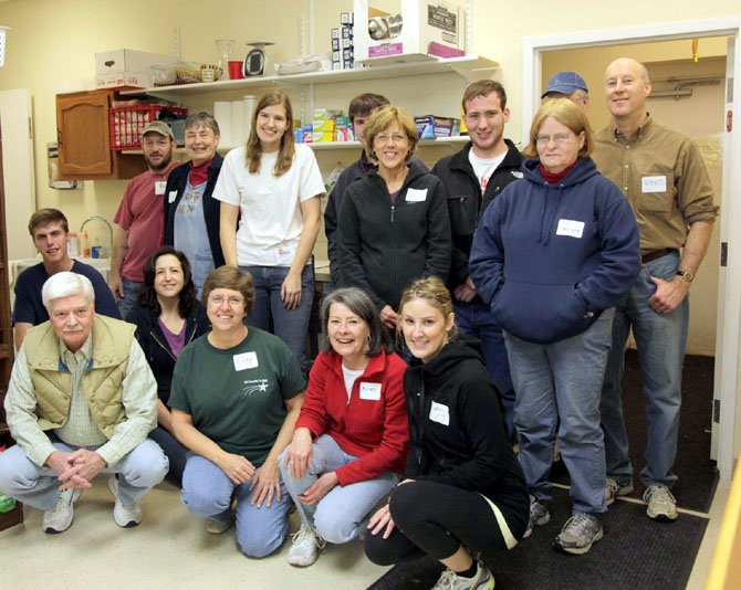
{"label": "standing long-haired young woman in white t-shirt and jeans", "polygon": [[269,91],[258,101],[247,146],[227,154],[213,197],[221,201],[226,263],[254,280],[257,299],[247,323],[268,329],[272,317],[275,335],[300,362],[314,297],[310,262],[323,193],[313,151],[294,141],[288,95]]}

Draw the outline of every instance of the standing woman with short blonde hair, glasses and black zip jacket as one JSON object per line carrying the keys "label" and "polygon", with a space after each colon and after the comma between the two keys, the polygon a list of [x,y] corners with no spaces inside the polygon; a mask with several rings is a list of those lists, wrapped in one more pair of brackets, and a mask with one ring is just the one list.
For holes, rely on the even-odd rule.
{"label": "standing woman with short blonde hair, glasses and black zip jacket", "polygon": [[409,159],[417,127],[403,108],[385,106],[365,128],[378,171],[353,182],[340,211],[343,286],[365,291],[388,329],[396,329],[401,289],[426,276],[448,278],[450,219],[442,182]]}

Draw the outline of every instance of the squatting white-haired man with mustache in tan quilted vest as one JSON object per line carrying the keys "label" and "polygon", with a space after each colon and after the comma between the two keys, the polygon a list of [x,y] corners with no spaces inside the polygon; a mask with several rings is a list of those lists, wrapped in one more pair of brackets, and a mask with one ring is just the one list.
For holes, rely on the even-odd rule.
{"label": "squatting white-haired man with mustache in tan quilted vest", "polygon": [[135,327],[96,315],[92,283],[73,272],[52,275],[42,299],[50,319],[25,335],[6,397],[18,444],[0,453],[0,491],[44,510],[45,533],[63,533],[82,491],[109,473],[114,520],[136,526],[168,462],[147,439],[157,383]]}

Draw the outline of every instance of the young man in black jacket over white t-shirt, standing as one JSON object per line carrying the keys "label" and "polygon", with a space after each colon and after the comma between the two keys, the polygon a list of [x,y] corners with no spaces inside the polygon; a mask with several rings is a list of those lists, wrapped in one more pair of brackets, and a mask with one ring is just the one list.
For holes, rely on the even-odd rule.
{"label": "young man in black jacket over white t-shirt, standing", "polygon": [[448,196],[452,234],[448,288],[453,295],[458,327],[463,335],[481,340],[487,369],[501,396],[508,432],[514,436],[514,388],[502,330],[468,274],[468,257],[473,232],[489,203],[507,185],[522,178],[522,157],[514,144],[504,139],[510,109],[499,82],[472,83],[463,93],[462,106],[471,140],[432,168]]}

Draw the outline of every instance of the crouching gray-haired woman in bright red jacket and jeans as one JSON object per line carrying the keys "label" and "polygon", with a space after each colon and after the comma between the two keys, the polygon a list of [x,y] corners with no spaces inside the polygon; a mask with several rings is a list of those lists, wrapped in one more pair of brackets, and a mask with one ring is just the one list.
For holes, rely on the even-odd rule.
{"label": "crouching gray-haired woman in bright red jacket and jeans", "polygon": [[301,529],[292,566],[311,566],[325,541],[358,535],[376,503],[398,482],[409,440],[406,364],[370,298],[341,288],[322,302],[326,349],[309,377],[291,444],[280,461]]}

